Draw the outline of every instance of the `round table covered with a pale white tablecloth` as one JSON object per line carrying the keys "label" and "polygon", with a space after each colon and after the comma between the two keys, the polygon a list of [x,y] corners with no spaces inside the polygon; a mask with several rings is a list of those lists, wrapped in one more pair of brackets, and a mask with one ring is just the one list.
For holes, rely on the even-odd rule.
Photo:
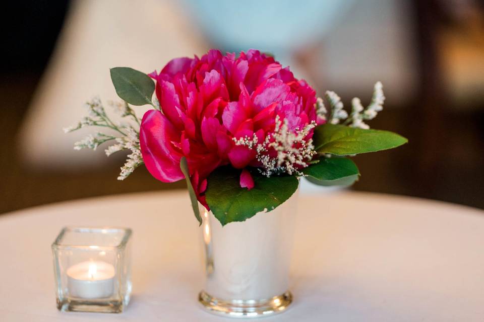
{"label": "round table covered with a pale white tablecloth", "polygon": [[[372,193],[301,194],[294,302],[264,321],[482,321],[484,212]],[[50,245],[66,225],[131,227],[121,314],[59,312]],[[0,215],[0,320],[223,321],[201,309],[201,233],[186,191],[85,199]]]}

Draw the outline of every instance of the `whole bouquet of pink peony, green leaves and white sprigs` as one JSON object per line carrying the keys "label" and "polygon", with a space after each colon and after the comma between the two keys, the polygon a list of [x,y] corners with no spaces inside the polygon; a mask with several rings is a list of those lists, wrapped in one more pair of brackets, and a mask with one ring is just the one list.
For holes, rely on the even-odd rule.
{"label": "whole bouquet of pink peony, green leaves and white sprigs", "polygon": [[[244,221],[287,200],[299,177],[350,185],[359,172],[348,156],[407,142],[365,123],[383,108],[380,82],[370,105],[354,98],[348,115],[336,93],[326,92],[326,108],[306,81],[258,50],[238,56],[210,50],[201,58],[173,59],[159,73],[128,67],[110,73],[124,102],[109,105],[124,122],[112,121],[93,99],[89,116],[65,131],[96,126],[112,134],[97,132],[74,148],[113,142],[107,155],[131,150],[119,180],[142,164],[162,182],[185,179],[200,224],[198,202],[222,225]],[[153,109],[139,119],[132,106],[141,105]]]}

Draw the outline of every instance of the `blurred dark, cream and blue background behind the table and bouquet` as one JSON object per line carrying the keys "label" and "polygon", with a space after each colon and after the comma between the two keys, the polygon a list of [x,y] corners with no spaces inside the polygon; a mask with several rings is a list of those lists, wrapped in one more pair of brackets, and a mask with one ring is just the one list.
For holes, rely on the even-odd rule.
{"label": "blurred dark, cream and blue background behind the table and bouquet", "polygon": [[[350,189],[484,208],[484,5],[471,0],[78,0],[7,2],[0,60],[0,213],[106,194],[184,188],[126,155],[73,150],[63,127],[94,95],[116,99],[109,67],[160,69],[209,48],[273,53],[319,95],[364,105],[384,85],[370,126],[409,143],[358,155]],[[142,109],[138,109],[140,113]]]}

